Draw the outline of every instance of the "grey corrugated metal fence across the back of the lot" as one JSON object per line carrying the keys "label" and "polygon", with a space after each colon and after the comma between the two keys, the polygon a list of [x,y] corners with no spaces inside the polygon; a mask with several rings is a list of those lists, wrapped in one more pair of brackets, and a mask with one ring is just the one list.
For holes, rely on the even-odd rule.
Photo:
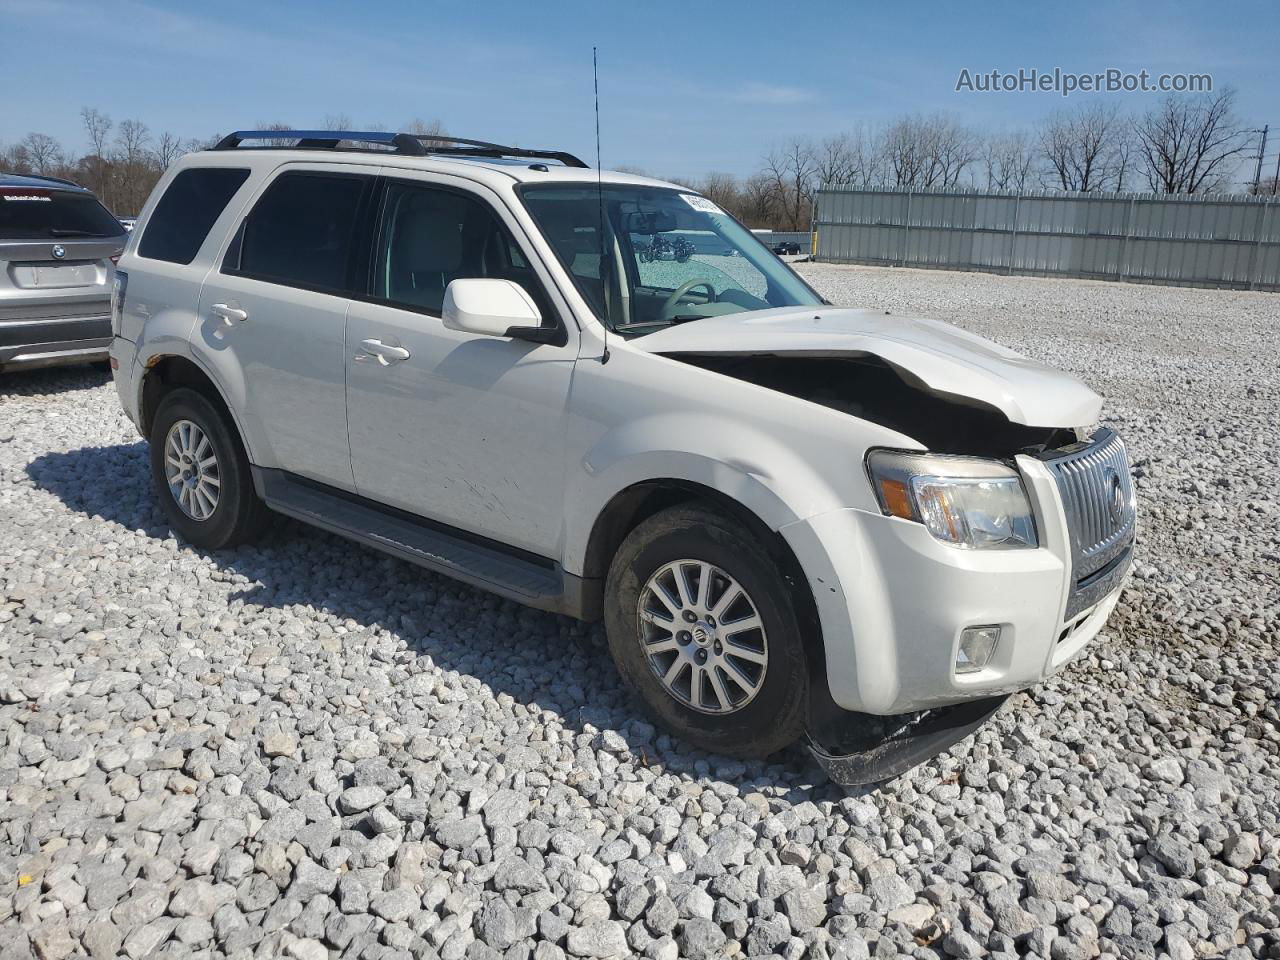
{"label": "grey corrugated metal fence across the back of the lot", "polygon": [[1280,197],[823,189],[817,257],[1280,289]]}

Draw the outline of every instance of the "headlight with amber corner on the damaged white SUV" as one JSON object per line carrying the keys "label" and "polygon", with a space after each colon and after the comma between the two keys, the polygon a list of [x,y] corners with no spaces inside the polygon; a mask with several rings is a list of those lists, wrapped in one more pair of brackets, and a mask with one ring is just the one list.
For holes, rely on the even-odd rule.
{"label": "headlight with amber corner on the damaged white SUV", "polygon": [[867,470],[891,517],[969,549],[1036,547],[1036,520],[1018,471],[995,460],[872,451]]}

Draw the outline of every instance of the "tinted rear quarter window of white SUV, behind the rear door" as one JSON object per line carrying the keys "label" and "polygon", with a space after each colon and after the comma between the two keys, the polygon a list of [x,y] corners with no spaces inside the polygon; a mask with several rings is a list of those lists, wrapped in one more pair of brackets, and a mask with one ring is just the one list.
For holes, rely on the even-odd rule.
{"label": "tinted rear quarter window of white SUV, behind the rear door", "polygon": [[179,173],[147,220],[138,256],[189,264],[246,179],[248,170],[227,166],[196,166]]}

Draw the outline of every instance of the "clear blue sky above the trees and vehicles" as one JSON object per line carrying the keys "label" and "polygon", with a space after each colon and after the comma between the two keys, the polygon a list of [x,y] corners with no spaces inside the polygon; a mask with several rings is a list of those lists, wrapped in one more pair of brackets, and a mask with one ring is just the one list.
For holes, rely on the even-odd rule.
{"label": "clear blue sky above the trees and vehicles", "polygon": [[[1204,72],[1239,91],[1249,125],[1280,125],[1275,0],[0,0],[0,142],[41,131],[76,151],[87,105],[182,137],[329,114],[438,118],[460,136],[591,157],[593,44],[605,166],[664,175],[745,174],[771,142],[905,113],[1014,129],[1085,99],[957,93],[961,68]],[[28,78],[20,96],[15,77]],[[1107,99],[1140,110],[1156,95]]]}

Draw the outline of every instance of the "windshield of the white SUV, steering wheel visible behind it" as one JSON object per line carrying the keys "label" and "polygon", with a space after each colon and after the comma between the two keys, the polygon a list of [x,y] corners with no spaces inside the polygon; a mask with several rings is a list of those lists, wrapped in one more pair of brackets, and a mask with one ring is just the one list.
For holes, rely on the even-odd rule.
{"label": "windshield of the white SUV, steering wheel visible behind it", "polygon": [[520,191],[579,292],[611,329],[641,335],[708,316],[823,302],[750,230],[696,193],[604,184],[602,244],[600,193],[594,184]]}

